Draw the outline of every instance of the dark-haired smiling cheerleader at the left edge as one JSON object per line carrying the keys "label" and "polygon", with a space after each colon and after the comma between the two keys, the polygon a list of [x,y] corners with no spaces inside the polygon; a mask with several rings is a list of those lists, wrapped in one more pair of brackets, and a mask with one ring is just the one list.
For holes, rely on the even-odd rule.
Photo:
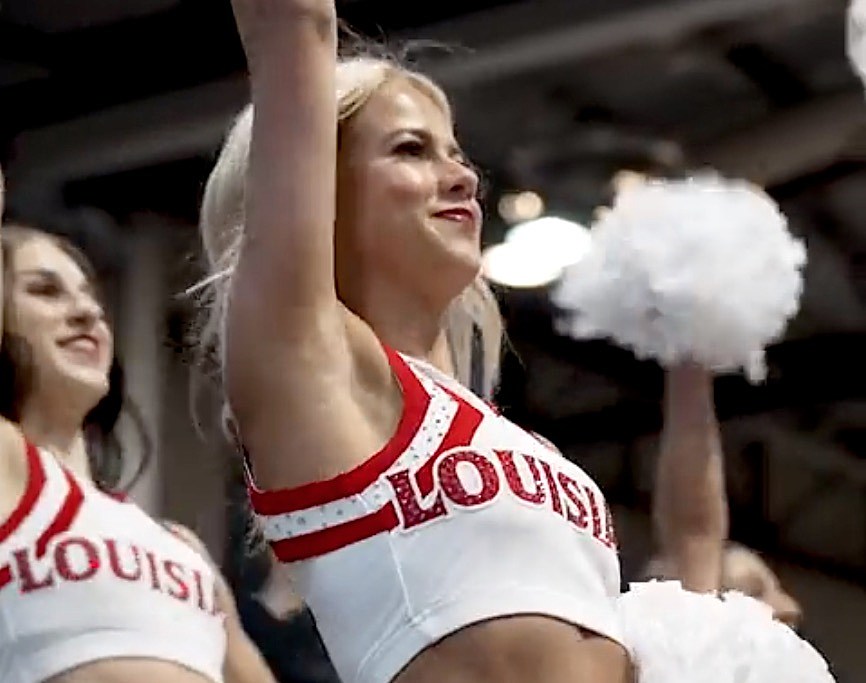
{"label": "dark-haired smiling cheerleader at the left edge", "polygon": [[121,392],[90,264],[35,229],[0,240],[0,680],[272,681],[197,539],[96,485],[87,437]]}

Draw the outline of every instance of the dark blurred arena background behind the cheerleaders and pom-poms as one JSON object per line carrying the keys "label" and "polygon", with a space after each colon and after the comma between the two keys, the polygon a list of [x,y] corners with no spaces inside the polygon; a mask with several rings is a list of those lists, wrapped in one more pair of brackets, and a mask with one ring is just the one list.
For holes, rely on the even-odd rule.
{"label": "dark blurred arena background behind the cheerleaders and pom-poms", "polygon": [[[485,245],[518,226],[534,245],[517,263],[490,252],[511,342],[499,401],[607,492],[626,578],[651,550],[661,371],[558,335],[557,271],[542,256],[579,231],[564,221],[590,220],[621,169],[708,166],[782,204],[809,250],[801,312],[770,350],[766,383],[716,385],[732,537],[778,570],[806,635],[853,681],[866,679],[866,98],[845,55],[845,7],[338,2],[454,98],[485,175]],[[190,391],[196,321],[183,292],[201,274],[204,179],[246,97],[228,0],[0,5],[8,216],[71,236],[97,263],[155,446],[133,495],[200,533],[241,589],[243,495],[216,397]]]}

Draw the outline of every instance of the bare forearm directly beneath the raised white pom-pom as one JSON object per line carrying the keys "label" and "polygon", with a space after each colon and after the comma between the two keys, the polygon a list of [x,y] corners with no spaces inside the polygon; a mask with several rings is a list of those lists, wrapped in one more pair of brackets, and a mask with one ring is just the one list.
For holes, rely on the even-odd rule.
{"label": "bare forearm directly beneath the raised white pom-pom", "polygon": [[689,590],[718,590],[728,535],[724,456],[713,377],[695,365],[672,368],[665,377],[653,519],[671,578]]}

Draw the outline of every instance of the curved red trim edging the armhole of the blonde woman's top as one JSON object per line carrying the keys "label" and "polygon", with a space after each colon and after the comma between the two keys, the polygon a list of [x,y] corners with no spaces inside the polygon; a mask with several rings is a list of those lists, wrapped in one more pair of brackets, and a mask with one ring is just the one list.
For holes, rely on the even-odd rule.
{"label": "curved red trim edging the armhole of the blonde woman's top", "polygon": [[409,448],[427,414],[430,396],[400,354],[384,344],[382,347],[403,392],[403,414],[391,440],[378,453],[370,456],[360,465],[324,481],[314,481],[290,489],[263,491],[256,488],[252,480],[248,480],[247,491],[250,502],[253,510],[258,514],[278,515],[296,512],[356,495],[387,472]]}

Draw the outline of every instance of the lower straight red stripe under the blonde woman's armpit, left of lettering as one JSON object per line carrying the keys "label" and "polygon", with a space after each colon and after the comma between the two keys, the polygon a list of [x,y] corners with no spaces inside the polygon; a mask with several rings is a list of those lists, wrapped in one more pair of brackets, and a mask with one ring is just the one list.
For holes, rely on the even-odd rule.
{"label": "lower straight red stripe under the blonde woman's armpit, left of lettering", "polygon": [[399,520],[393,503],[377,512],[314,531],[303,536],[286,538],[271,543],[271,549],[280,562],[297,562],[345,548],[372,536],[394,529]]}

